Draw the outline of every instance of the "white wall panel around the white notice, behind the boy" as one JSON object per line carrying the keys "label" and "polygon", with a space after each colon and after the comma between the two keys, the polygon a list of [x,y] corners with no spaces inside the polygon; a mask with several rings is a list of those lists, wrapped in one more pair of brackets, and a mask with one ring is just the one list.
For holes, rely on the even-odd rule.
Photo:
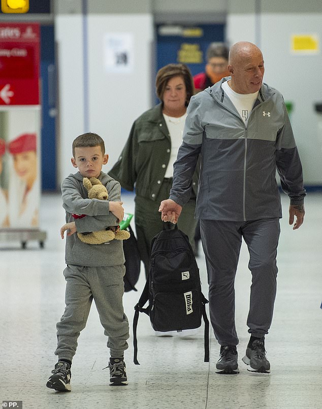
{"label": "white wall panel around the white notice, behind the boy", "polygon": [[[126,34],[132,39],[133,66],[110,72],[105,64],[105,36]],[[151,107],[151,43],[149,14],[90,15],[88,17],[89,129],[103,137],[109,164],[117,161],[133,121]]]}

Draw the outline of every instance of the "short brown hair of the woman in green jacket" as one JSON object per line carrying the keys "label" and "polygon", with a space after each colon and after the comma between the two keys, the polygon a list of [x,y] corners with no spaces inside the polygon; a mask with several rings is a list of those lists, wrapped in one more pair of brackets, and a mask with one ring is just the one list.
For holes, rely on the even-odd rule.
{"label": "short brown hair of the woman in green jacket", "polygon": [[155,91],[157,98],[163,102],[163,96],[169,80],[173,77],[182,77],[186,93],[186,106],[189,104],[190,98],[195,93],[194,79],[188,67],[184,64],[168,64],[159,69],[155,78]]}

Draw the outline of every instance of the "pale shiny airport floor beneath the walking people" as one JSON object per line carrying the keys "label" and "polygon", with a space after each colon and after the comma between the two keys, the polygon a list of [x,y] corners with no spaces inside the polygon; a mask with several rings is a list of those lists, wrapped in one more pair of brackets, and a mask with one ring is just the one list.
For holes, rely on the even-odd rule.
{"label": "pale shiny airport floor beneath the walking people", "polygon": [[[133,212],[133,195],[124,194],[122,199],[125,210]],[[0,243],[0,400],[22,401],[23,409],[322,407],[321,193],[307,196],[305,222],[297,231],[288,226],[288,199],[282,196],[278,289],[266,337],[270,374],[251,373],[241,360],[249,338],[251,279],[243,244],[236,277],[239,374],[215,373],[219,346],[213,333],[210,362],[203,362],[203,326],[195,336],[156,337],[145,314],[138,323],[140,365],[134,365],[132,320],[145,282],[142,269],[138,292],[124,294],[131,332],[125,352],[128,385],[109,386],[108,369],[102,370],[108,362],[106,337],[93,304],[73,360],[72,392],[65,393],[46,388],[56,363],[56,322],[65,307],[65,240],[59,237],[65,215],[59,194],[43,194],[41,203],[41,229],[47,232],[44,248],[32,241],[25,249],[19,242]],[[204,257],[197,261],[206,295]]]}

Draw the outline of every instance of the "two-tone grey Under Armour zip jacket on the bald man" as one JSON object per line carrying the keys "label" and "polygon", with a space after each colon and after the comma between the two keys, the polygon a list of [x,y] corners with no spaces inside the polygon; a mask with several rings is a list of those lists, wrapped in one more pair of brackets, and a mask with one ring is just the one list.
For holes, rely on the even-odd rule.
{"label": "two-tone grey Under Armour zip jacket on the bald man", "polygon": [[196,217],[249,221],[282,217],[276,169],[291,204],[303,204],[302,165],[279,91],[263,83],[247,127],[221,84],[191,98],[170,199],[183,206],[201,153]]}

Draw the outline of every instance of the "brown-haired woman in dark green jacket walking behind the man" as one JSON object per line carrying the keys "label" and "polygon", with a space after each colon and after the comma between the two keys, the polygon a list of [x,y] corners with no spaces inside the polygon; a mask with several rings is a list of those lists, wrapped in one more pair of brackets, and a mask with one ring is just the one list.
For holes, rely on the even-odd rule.
{"label": "brown-haired woman in dark green jacket walking behind the man", "polygon": [[[168,64],[156,75],[156,95],[161,101],[133,123],[130,136],[109,175],[123,188],[135,188],[135,226],[141,260],[149,272],[152,238],[163,229],[158,212],[172,186],[173,164],[182,142],[186,108],[194,95],[194,81],[183,64]],[[198,168],[198,167],[197,167]],[[180,216],[178,228],[194,245],[194,219],[199,172],[191,181],[191,198]]]}

